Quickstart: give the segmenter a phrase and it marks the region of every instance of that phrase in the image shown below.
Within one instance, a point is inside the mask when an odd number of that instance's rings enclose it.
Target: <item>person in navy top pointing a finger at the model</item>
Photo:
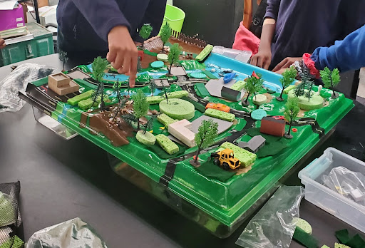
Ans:
[[[60,0],[57,7],[58,48],[68,56],[102,56],[135,85],[138,29],[153,26],[158,34],[165,0]]]

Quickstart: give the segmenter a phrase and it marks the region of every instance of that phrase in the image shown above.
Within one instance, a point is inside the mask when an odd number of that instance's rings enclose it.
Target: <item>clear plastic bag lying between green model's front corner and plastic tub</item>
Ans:
[[[282,186],[253,217],[236,244],[247,248],[289,247],[304,196],[301,186]]]

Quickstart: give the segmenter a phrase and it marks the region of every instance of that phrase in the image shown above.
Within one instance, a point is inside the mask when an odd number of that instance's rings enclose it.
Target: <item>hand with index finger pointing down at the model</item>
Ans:
[[[108,33],[109,52],[106,59],[118,70],[129,76],[129,86],[135,86],[138,50],[126,26],[115,26]]]

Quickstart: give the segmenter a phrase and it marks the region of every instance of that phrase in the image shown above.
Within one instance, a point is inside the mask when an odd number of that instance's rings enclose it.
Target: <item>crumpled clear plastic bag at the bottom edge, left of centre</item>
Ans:
[[[35,232],[25,248],[108,248],[106,243],[80,218],[70,219]]]

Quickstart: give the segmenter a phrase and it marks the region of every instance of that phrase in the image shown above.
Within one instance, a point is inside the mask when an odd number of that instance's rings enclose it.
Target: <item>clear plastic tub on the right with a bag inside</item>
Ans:
[[[365,175],[365,162],[334,148],[327,148],[321,157],[299,172],[298,176],[305,186],[305,199],[365,232],[365,207],[322,184],[322,175],[328,175],[332,168],[338,166]]]

